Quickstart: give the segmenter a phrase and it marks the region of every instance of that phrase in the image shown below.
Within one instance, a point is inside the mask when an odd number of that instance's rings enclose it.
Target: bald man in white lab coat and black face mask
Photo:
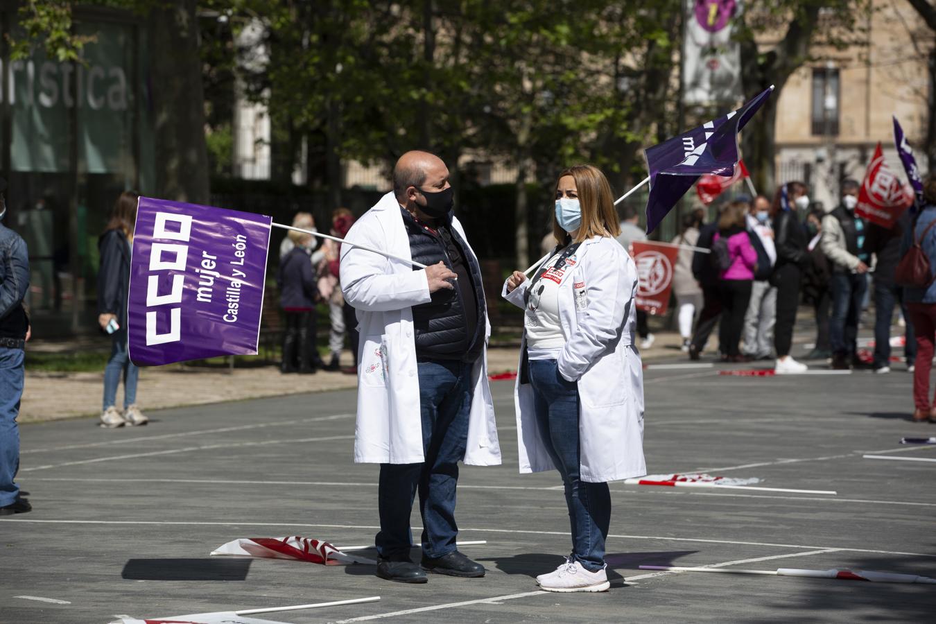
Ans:
[[[380,464],[377,575],[483,576],[456,547],[458,462],[501,463],[487,374],[490,335],[481,270],[452,214],[448,169],[407,152],[383,196],[342,245],[344,299],[358,314],[355,461]],[[422,515],[421,566],[409,557],[410,512]]]

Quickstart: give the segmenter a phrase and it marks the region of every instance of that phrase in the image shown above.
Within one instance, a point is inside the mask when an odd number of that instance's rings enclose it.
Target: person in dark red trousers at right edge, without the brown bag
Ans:
[[[914,240],[920,241],[929,259],[930,277],[936,269],[936,173],[923,181],[924,206],[900,240],[900,257],[906,254]],[[929,399],[929,372],[932,370],[933,342],[936,341],[936,281],[926,288],[906,286],[903,290],[910,320],[916,336],[916,366],[914,370],[914,422],[936,423],[936,400]]]

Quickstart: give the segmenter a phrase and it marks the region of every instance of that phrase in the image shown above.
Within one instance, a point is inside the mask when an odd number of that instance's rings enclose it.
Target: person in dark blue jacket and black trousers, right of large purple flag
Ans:
[[[283,372],[314,373],[323,366],[315,347],[315,299],[318,289],[312,267],[314,237],[290,230],[294,247],[280,260],[276,282],[285,314]]]

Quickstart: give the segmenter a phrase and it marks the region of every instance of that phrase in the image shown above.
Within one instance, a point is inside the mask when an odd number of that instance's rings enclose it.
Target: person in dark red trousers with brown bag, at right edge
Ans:
[[[914,369],[914,422],[936,423],[936,400],[929,400],[929,371],[932,368],[933,341],[936,340],[936,174],[923,181],[923,206],[913,227],[908,227],[900,243],[901,260],[897,282],[904,285],[910,320],[916,336]],[[913,265],[908,267],[908,265]],[[915,268],[916,270],[908,270]],[[926,269],[926,270],[923,270]],[[908,275],[916,273],[916,275]],[[919,275],[919,273],[923,273]],[[911,281],[908,278],[915,278]],[[911,285],[913,284],[913,285]]]

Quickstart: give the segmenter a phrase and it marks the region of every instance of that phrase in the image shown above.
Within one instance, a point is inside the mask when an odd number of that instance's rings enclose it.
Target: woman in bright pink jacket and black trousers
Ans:
[[[722,297],[722,325],[719,340],[723,358],[732,362],[746,361],[740,355],[739,342],[744,329],[744,315],[751,300],[757,252],[751,244],[745,217],[751,210],[746,201],[728,205],[718,220],[719,231],[712,244],[712,261],[719,268],[719,290]]]

